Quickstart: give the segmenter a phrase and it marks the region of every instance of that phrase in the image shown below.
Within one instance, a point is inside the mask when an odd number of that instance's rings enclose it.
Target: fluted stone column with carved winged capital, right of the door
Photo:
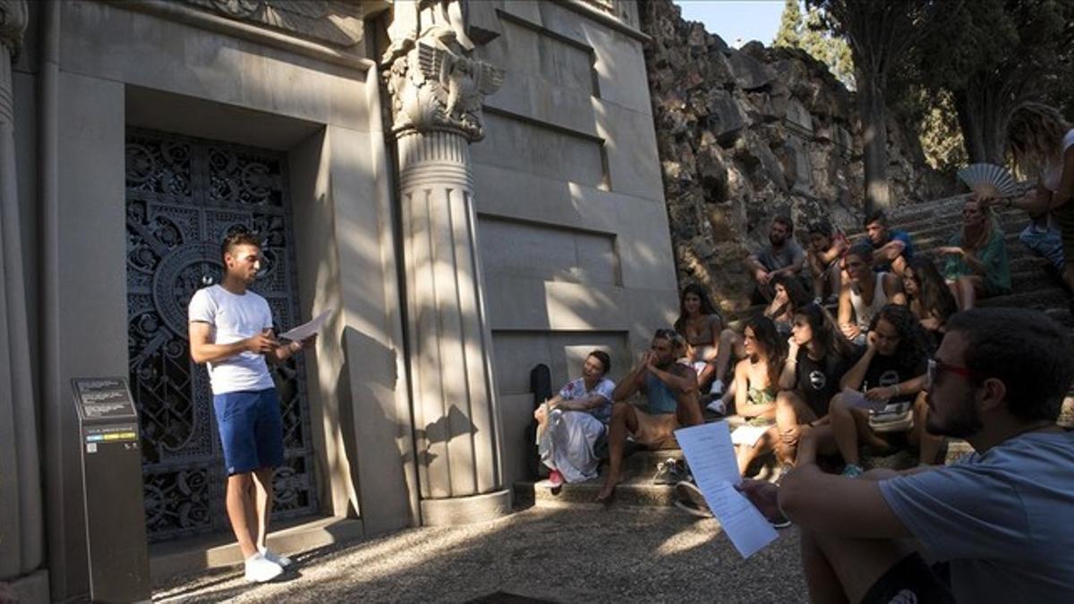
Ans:
[[[481,100],[503,72],[470,58],[458,4],[411,8],[416,27],[393,40],[383,66],[398,158],[415,443],[422,521],[461,523],[510,506],[469,163],[469,143],[483,135]]]

